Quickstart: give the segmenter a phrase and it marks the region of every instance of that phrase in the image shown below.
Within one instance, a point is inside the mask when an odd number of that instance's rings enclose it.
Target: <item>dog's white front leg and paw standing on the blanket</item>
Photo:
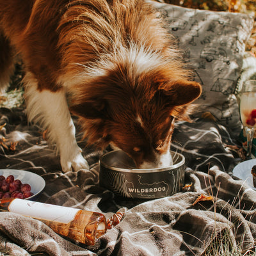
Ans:
[[[31,73],[26,74],[24,83],[29,122],[38,122],[42,129],[47,129],[47,141],[56,144],[63,172],[72,171],[72,168],[74,171],[88,169],[76,142],[76,129],[68,110],[65,90],[39,91]]]

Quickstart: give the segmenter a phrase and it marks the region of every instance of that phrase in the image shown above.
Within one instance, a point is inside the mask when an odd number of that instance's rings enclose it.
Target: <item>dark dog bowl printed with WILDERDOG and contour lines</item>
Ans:
[[[173,165],[156,169],[136,169],[131,157],[114,150],[100,157],[100,186],[127,198],[161,198],[182,190],[185,158],[172,152]]]

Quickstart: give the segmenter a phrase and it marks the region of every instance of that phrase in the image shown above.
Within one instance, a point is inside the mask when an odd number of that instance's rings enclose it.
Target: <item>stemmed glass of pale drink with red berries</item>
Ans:
[[[252,158],[253,134],[256,128],[256,80],[247,80],[243,83],[240,97],[240,115],[246,131],[246,159],[250,159]]]

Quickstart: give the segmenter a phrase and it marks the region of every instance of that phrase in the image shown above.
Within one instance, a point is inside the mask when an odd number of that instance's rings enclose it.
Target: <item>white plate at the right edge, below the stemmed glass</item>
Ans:
[[[233,169],[233,173],[239,179],[245,180],[247,184],[249,184],[253,189],[256,190],[256,188],[253,187],[252,173],[251,173],[253,165],[256,165],[256,159],[250,159],[250,160],[244,161],[235,166],[235,168]]]

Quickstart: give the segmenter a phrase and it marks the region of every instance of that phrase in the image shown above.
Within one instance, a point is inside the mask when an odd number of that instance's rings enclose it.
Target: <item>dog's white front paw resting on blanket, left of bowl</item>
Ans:
[[[81,150],[77,154],[72,156],[64,157],[61,156],[61,167],[63,172],[78,172],[81,169],[89,170],[90,166],[81,154]]]

